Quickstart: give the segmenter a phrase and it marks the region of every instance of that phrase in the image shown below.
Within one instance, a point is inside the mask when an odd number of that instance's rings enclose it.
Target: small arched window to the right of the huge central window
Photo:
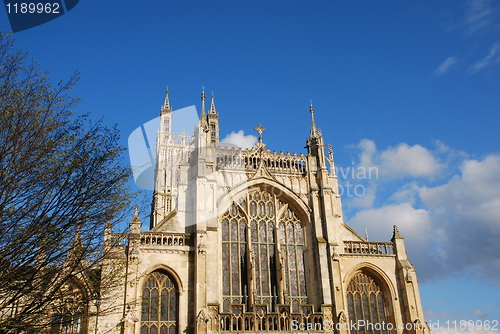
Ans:
[[[351,330],[353,334],[388,334],[391,331],[388,324],[387,296],[384,295],[381,285],[368,273],[358,272],[347,287],[347,305],[351,322],[364,321],[372,326],[359,327]]]

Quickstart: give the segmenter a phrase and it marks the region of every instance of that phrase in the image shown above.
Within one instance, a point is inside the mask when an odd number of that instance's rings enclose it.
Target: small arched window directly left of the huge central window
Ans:
[[[142,291],[141,334],[177,333],[179,290],[161,271],[148,275]]]

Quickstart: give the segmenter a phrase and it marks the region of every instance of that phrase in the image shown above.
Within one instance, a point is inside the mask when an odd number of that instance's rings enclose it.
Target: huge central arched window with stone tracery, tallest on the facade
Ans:
[[[294,210],[275,194],[250,191],[221,216],[223,311],[232,304],[307,304],[304,233]]]

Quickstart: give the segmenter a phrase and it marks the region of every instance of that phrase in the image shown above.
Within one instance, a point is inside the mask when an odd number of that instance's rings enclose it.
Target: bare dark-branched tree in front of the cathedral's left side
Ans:
[[[68,284],[100,263],[106,223],[130,207],[118,131],[72,112],[77,79],[51,85],[0,33],[0,333],[50,324]]]

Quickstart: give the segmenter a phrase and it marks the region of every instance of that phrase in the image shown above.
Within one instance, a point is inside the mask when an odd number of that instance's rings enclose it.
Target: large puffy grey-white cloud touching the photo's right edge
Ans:
[[[500,155],[465,160],[460,175],[434,188],[421,187],[432,211],[436,243],[445,254],[442,267],[470,272],[500,283]]]

